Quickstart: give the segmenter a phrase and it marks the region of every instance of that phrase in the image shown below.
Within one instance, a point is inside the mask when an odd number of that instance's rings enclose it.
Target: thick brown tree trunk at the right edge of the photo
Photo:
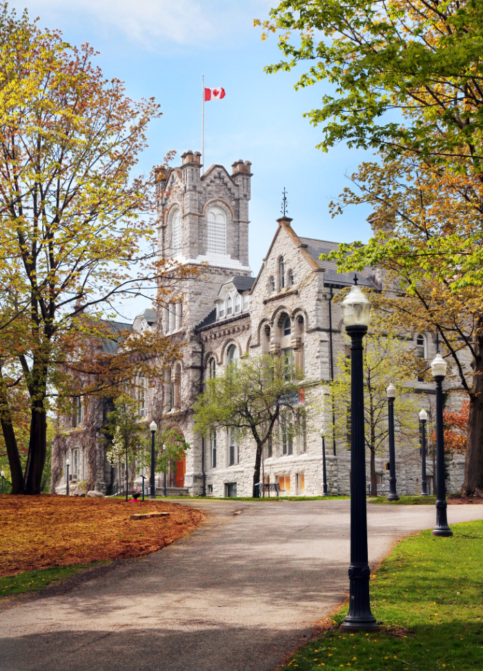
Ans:
[[[483,497],[483,317],[477,326],[462,493]]]

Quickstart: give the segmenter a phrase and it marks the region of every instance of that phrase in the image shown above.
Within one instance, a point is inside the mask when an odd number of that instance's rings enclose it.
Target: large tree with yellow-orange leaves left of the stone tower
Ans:
[[[0,422],[14,493],[40,491],[72,320],[85,311],[101,324],[141,278],[172,271],[152,263],[146,242],[155,176],[134,176],[158,106],[126,97],[94,57],[0,6]],[[25,468],[14,388],[29,399]]]

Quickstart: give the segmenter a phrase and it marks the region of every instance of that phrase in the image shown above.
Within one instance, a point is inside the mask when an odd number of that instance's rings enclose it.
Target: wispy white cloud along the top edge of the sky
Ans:
[[[21,7],[15,0],[11,4]],[[164,51],[173,44],[209,47],[248,32],[252,19],[263,18],[270,5],[270,0],[31,0],[29,13],[40,15],[41,26],[55,17],[94,20],[100,30],[115,28],[148,49]]]

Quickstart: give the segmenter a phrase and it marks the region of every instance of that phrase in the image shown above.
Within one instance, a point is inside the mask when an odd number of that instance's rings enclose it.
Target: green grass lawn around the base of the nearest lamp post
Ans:
[[[451,529],[452,538],[424,531],[404,539],[371,577],[380,632],[341,632],[344,607],[280,671],[481,670],[483,521]]]

